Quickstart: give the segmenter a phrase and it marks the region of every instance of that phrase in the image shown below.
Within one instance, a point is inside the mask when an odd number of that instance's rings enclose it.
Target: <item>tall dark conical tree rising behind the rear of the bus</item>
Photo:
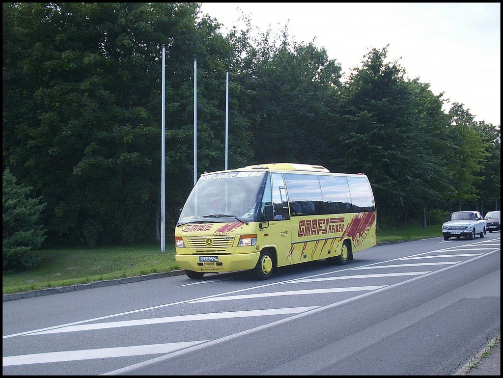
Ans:
[[[369,176],[381,219],[404,224],[441,194],[431,183],[445,175],[438,152],[429,151],[441,103],[386,56],[387,47],[372,49],[344,86],[339,148],[332,156],[345,171]]]

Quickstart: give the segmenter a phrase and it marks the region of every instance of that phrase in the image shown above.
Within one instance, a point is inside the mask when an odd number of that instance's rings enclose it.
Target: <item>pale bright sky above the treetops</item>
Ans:
[[[406,77],[444,92],[444,111],[464,105],[475,121],[500,125],[500,3],[200,3],[201,13],[258,33],[269,28],[289,40],[313,42],[347,75],[372,48],[387,47]]]

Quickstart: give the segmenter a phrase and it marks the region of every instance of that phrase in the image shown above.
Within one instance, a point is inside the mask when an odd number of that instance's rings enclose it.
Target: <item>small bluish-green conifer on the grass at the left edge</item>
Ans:
[[[2,271],[26,270],[40,258],[31,253],[45,239],[39,224],[45,204],[29,198],[30,187],[16,184],[16,177],[6,169],[2,174]]]

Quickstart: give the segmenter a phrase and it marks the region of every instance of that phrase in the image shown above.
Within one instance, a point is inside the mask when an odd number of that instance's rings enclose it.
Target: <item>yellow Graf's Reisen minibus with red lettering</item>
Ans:
[[[327,259],[346,264],[376,244],[372,187],[365,174],[272,163],[204,173],[175,228],[175,259],[190,278]]]

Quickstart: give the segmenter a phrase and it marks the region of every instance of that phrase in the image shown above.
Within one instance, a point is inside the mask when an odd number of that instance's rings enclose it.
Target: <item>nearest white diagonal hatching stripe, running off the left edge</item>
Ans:
[[[116,348],[68,350],[62,352],[49,352],[37,354],[24,354],[19,356],[2,357],[2,366],[27,365],[32,363],[48,363],[62,361],[78,361],[95,358],[112,358],[124,356],[139,356],[144,354],[172,353],[176,350],[188,348],[207,340],[176,342],[166,344],[134,345]]]

